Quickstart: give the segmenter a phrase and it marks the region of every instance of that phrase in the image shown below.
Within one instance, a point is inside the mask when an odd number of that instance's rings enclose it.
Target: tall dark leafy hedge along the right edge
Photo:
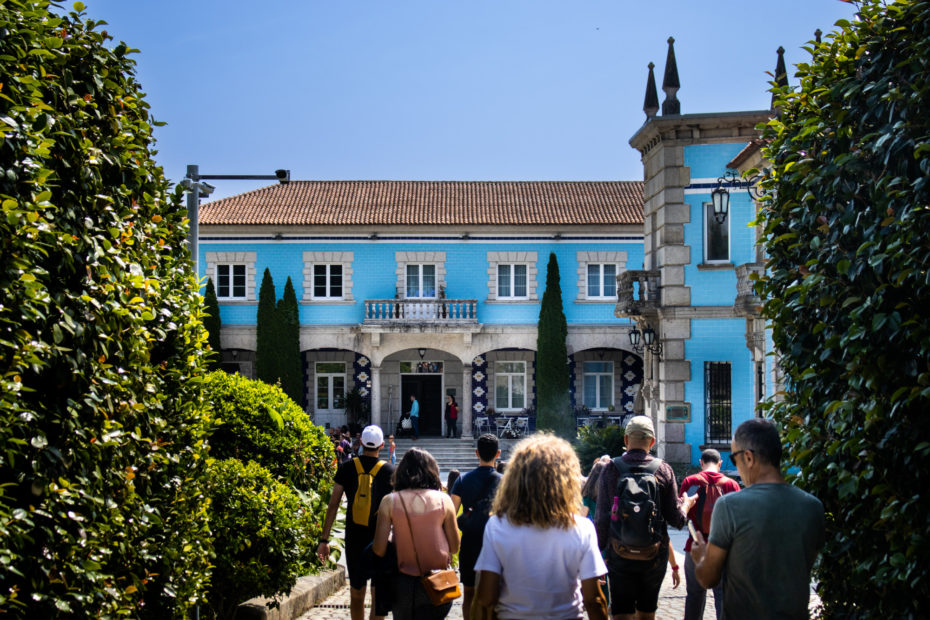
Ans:
[[[767,300],[828,617],[930,615],[930,3],[865,2],[765,128]]]

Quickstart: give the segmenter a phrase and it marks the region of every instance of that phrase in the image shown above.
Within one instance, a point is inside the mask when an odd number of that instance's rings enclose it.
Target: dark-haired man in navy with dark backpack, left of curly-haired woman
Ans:
[[[478,467],[458,480],[451,489],[452,505],[462,514],[458,518],[462,530],[462,545],[459,548],[459,572],[465,586],[462,597],[462,617],[468,618],[471,602],[475,596],[475,563],[484,542],[484,526],[491,516],[491,504],[501,476],[495,469],[495,461],[501,455],[497,437],[490,433],[478,438]]]

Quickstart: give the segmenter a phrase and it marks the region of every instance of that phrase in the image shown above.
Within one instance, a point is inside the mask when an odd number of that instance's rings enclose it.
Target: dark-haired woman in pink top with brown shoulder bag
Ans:
[[[420,576],[449,567],[459,550],[452,499],[441,491],[439,466],[426,450],[411,448],[394,470],[394,493],[381,500],[373,551],[387,552],[393,531],[398,575],[391,612],[395,620],[445,618],[452,603],[434,606]]]

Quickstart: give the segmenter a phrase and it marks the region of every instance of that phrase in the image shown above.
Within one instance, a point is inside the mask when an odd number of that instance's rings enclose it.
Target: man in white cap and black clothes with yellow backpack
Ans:
[[[345,461],[336,470],[333,479],[333,493],[326,509],[323,522],[323,537],[317,548],[317,555],[326,561],[329,557],[329,534],[339,512],[339,504],[345,494],[346,509],[345,558],[349,572],[350,611],[352,620],[363,620],[365,615],[365,586],[371,567],[366,566],[362,552],[375,537],[375,523],[378,520],[378,506],[391,488],[391,476],[394,468],[390,463],[378,459],[384,447],[384,434],[377,426],[366,426],[361,436],[362,454]],[[375,588],[371,588],[371,617],[375,616]]]

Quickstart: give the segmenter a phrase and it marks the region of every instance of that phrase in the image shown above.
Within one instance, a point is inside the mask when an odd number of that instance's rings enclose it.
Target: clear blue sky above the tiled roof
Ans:
[[[682,113],[765,109],[782,45],[840,0],[85,0],[140,50],[157,156],[177,182],[637,180],[649,61],[675,37]],[[797,80],[792,80],[797,83]],[[660,99],[663,97],[661,91]],[[214,183],[222,197],[263,182]]]

